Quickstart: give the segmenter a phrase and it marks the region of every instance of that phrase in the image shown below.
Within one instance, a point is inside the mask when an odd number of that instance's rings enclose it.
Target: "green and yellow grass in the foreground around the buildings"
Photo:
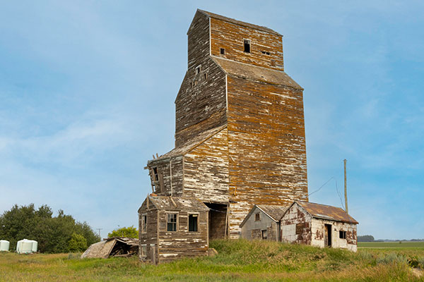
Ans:
[[[424,281],[411,268],[411,262],[424,268],[421,248],[354,253],[246,240],[216,240],[211,247],[215,257],[158,266],[136,257],[0,253],[0,281]]]

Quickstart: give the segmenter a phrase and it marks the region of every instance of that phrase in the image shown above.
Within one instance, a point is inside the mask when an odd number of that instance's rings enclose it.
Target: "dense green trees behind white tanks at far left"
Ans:
[[[46,204],[38,209],[34,204],[15,204],[0,216],[0,240],[8,240],[13,250],[18,240],[24,238],[36,240],[38,250],[47,253],[83,252],[100,241],[88,223],[76,221],[61,209],[53,216]]]

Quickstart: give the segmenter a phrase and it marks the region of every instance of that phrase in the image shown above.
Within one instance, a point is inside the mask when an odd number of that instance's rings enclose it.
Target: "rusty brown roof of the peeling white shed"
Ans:
[[[314,218],[329,219],[333,221],[341,221],[346,223],[358,224],[358,221],[353,219],[352,216],[347,214],[343,209],[339,207],[328,206],[326,204],[316,204],[312,202],[295,201],[293,204],[295,203],[299,204],[300,207],[304,208],[307,211],[307,213]]]

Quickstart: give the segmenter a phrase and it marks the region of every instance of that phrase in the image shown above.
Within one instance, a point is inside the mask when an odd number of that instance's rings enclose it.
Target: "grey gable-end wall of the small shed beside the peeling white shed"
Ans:
[[[259,221],[255,221],[255,214],[259,214]],[[278,223],[273,221],[267,214],[254,207],[254,211],[250,214],[245,224],[242,226],[242,238],[247,240],[261,239],[261,231],[267,231],[267,240],[278,241]]]

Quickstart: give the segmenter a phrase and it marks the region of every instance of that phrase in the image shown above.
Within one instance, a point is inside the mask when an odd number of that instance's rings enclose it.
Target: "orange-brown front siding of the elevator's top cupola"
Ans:
[[[244,39],[250,40],[250,53],[244,51]],[[220,54],[220,48],[225,49],[225,54]],[[211,55],[254,66],[281,71],[284,69],[281,35],[255,30],[217,18],[211,18]],[[274,66],[272,66],[271,60],[275,61]]]

